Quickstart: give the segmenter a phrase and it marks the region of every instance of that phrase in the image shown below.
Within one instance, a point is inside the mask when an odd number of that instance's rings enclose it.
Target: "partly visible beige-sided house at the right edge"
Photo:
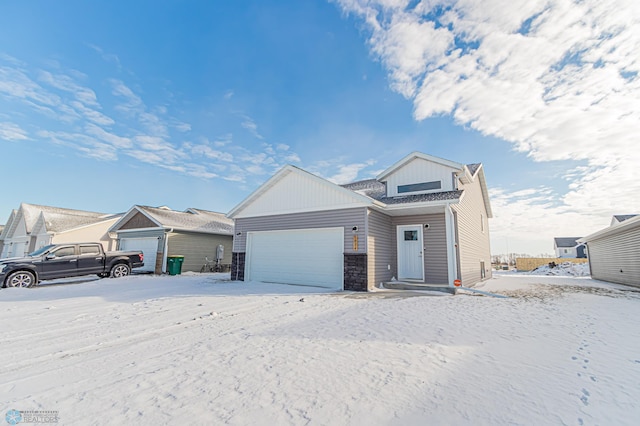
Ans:
[[[589,251],[591,278],[640,287],[640,216],[580,239]]]

